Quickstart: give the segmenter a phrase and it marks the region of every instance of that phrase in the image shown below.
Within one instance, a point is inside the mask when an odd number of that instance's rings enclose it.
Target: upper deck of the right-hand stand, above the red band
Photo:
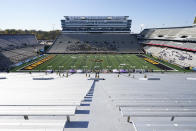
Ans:
[[[196,51],[196,26],[145,29],[140,34],[140,43]]]

